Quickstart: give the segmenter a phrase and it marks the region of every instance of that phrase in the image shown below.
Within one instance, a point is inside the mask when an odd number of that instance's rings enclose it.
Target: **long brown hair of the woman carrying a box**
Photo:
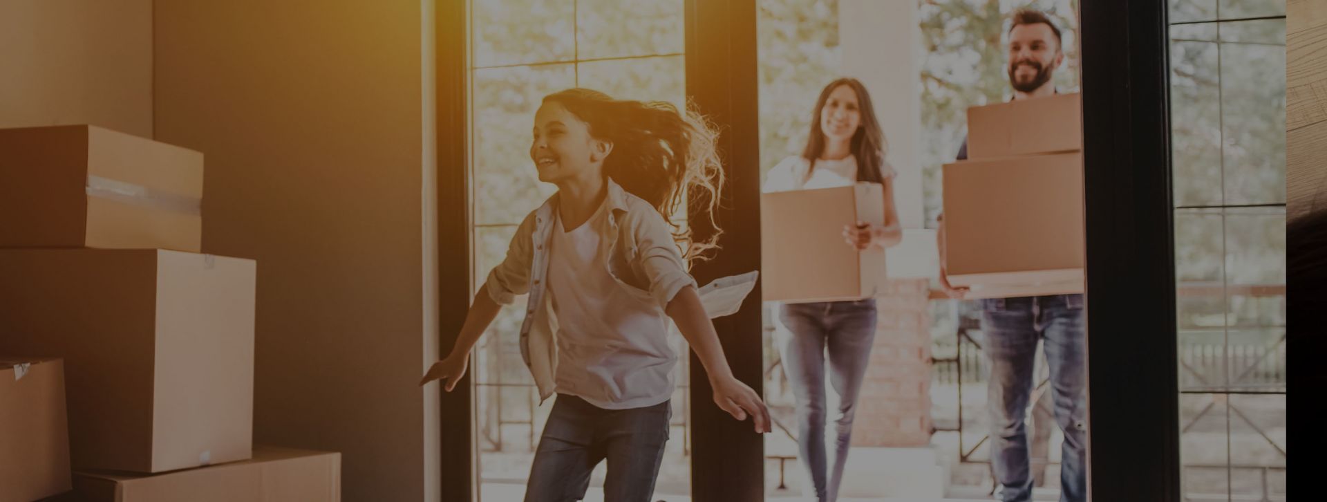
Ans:
[[[825,151],[825,133],[820,129],[820,110],[829,101],[829,93],[840,85],[847,85],[857,94],[857,110],[861,113],[861,126],[852,133],[849,151],[857,158],[857,181],[881,183],[880,167],[885,163],[885,134],[880,130],[880,121],[876,120],[876,108],[871,104],[871,94],[867,86],[852,77],[836,78],[820,90],[816,100],[815,112],[811,113],[811,134],[807,135],[807,147],[802,150],[802,158],[807,159],[811,169],[807,169],[807,179],[816,169],[816,159]]]

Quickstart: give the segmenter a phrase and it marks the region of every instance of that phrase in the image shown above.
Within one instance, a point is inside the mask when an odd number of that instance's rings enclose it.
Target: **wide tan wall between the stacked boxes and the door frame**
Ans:
[[[342,452],[346,501],[425,499],[438,474],[422,12],[155,1],[157,138],[207,155],[204,251],[259,263],[255,440]]]

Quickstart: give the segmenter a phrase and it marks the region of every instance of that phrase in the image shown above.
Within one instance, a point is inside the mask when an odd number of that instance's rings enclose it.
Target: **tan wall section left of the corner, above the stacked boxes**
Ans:
[[[0,127],[153,135],[151,0],[0,0]]]

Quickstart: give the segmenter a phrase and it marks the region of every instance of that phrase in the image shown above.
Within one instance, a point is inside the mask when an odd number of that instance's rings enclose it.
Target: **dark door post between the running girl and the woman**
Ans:
[[[698,262],[705,284],[760,268],[760,129],[756,98],[756,0],[686,1],[686,94],[722,130],[719,151],[727,185],[715,220],[723,247]],[[694,202],[694,201],[693,201]],[[693,205],[693,207],[697,207]],[[689,212],[697,239],[713,235],[706,214]],[[759,290],[714,325],[733,373],[762,392],[763,344]],[[691,356],[691,493],[697,502],[764,499],[764,437],[750,420],[719,409],[705,369]]]

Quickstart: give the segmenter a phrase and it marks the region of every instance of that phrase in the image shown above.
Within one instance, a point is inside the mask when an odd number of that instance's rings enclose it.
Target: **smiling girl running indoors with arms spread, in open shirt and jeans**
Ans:
[[[764,402],[729,369],[687,274],[687,260],[714,248],[714,239],[693,242],[669,224],[685,187],[710,195],[711,209],[718,199],[714,134],[698,114],[666,102],[588,89],[549,94],[535,114],[529,158],[557,193],[525,216],[451,355],[425,375],[446,378],[450,392],[499,304],[529,293],[522,356],[540,400],[557,398],[527,502],[581,499],[605,458],[605,501],[650,501],[678,357],[667,345],[669,319],[705,365],[714,402],[736,420],[750,416],[756,433],[770,430]]]

